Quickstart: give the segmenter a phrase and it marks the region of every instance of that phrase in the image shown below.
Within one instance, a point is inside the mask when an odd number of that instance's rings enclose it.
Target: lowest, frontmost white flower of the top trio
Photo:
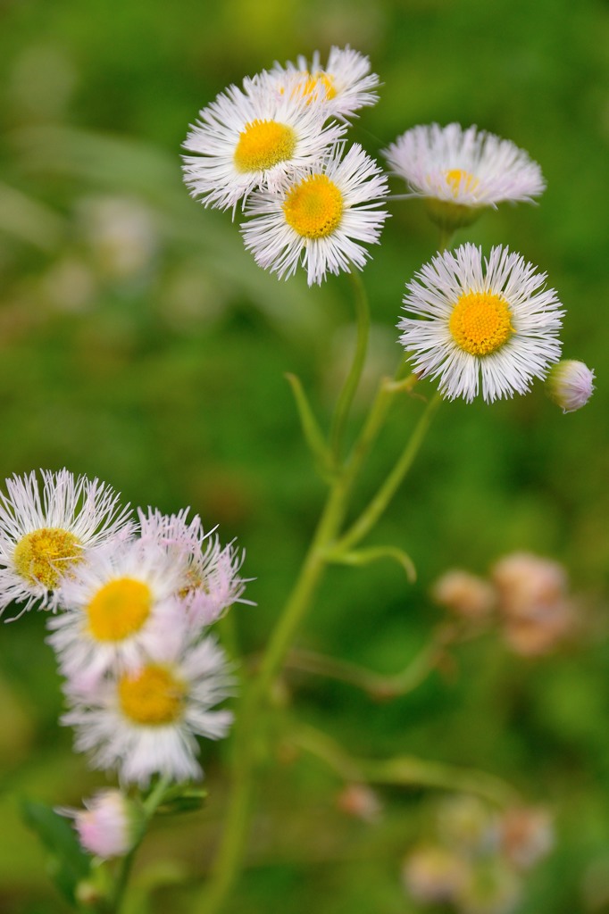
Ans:
[[[359,242],[379,241],[387,178],[358,143],[342,153],[338,147],[280,193],[252,194],[241,231],[263,269],[287,278],[302,261],[312,285],[326,271],[364,267],[370,255]]]

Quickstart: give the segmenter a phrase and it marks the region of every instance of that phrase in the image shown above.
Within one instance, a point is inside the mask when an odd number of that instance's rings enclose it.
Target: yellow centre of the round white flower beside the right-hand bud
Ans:
[[[495,292],[465,292],[448,324],[454,342],[471,356],[490,356],[514,333],[508,303]]]

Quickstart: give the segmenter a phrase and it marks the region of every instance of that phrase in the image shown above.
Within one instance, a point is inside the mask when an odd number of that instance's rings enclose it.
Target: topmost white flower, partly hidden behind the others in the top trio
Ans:
[[[379,77],[370,72],[369,58],[349,48],[330,48],[326,66],[322,66],[321,55],[315,51],[309,62],[303,55],[296,63],[288,61],[284,67],[275,63],[272,76],[280,90],[284,89],[287,78],[296,74],[292,91],[304,98],[321,95],[326,117],[348,120],[359,108],[374,105],[379,96],[374,91],[379,86]]]

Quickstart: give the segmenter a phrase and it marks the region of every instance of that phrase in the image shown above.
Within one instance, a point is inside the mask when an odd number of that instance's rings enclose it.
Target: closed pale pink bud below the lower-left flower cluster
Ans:
[[[127,855],[144,825],[139,807],[116,789],[96,793],[84,807],[59,810],[74,819],[80,845],[104,860]]]

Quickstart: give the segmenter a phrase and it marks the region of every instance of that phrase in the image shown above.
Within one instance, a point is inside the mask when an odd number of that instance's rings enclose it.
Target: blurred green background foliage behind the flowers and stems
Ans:
[[[433,675],[390,705],[301,675],[288,686],[299,713],[356,754],[473,765],[547,804],[556,847],[518,910],[606,914],[606,3],[0,3],[0,475],[67,466],[134,505],[192,505],[225,542],[238,537],[247,549],[244,571],[256,579],[247,595],[258,605],[233,615],[240,650],[261,648],[324,494],[283,373],[303,378],[326,421],[353,338],[349,285],[339,277],[308,290],[303,275],[278,282],[259,270],[230,215],[188,197],[180,145],[230,82],[315,48],[324,59],[347,43],[369,55],[383,83],[379,104],[349,134],[370,154],[417,123],[458,121],[508,137],[540,162],[548,190],[539,207],[500,207],[457,240],[508,244],[548,272],[568,310],[565,356],[596,369],[597,390],[568,416],[540,384],[492,407],[443,404],[369,539],[406,549],[417,584],[384,564],[332,571],[299,643],[397,670],[440,618],[428,596],[433,579],[454,565],[485,573],[514,549],[564,563],[581,595],[582,635],[527,661],[491,634],[455,654],[454,675]],[[400,356],[404,283],[437,245],[419,201],[390,211],[363,274],[374,325],[359,417],[374,378]],[[415,399],[395,409],[362,500],[420,409]],[[43,617],[30,613],[1,634],[0,909],[60,912],[18,798],[77,805],[103,777],[71,754],[57,723]],[[205,870],[226,751],[205,749],[208,810],[156,831],[143,878],[163,856],[170,864],[157,868],[159,881]],[[428,792],[388,794],[371,825],[337,810],[337,779],[314,760],[286,763],[273,778],[230,912],[419,910],[399,873]],[[157,909],[181,911],[180,898],[160,892]]]

